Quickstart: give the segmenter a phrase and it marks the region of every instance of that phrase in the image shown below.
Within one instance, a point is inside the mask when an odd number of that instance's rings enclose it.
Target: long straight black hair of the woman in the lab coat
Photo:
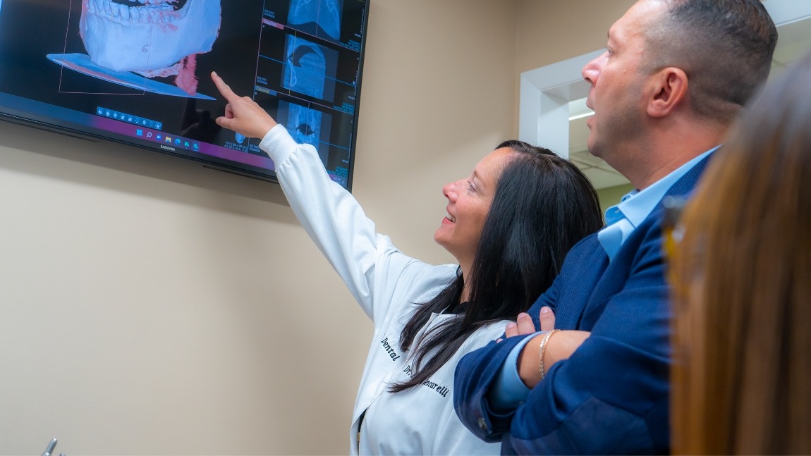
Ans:
[[[564,257],[583,237],[603,227],[594,186],[569,160],[543,147],[517,140],[496,185],[470,277],[470,296],[459,305],[465,279],[457,278],[439,295],[420,305],[401,333],[405,352],[431,313],[457,313],[432,328],[414,347],[414,377],[393,384],[391,392],[427,380],[448,362],[475,330],[514,319],[545,292]],[[423,365],[424,364],[424,365]]]

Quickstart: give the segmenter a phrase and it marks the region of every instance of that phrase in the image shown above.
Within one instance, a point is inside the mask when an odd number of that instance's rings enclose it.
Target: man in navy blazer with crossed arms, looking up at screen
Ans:
[[[457,366],[454,406],[478,437],[504,454],[669,451],[663,198],[693,190],[776,41],[758,0],[640,0],[611,26],[582,71],[588,147],[637,190],[504,340]]]

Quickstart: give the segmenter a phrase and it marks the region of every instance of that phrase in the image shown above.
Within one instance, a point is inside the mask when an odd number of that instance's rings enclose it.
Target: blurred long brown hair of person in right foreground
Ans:
[[[674,454],[811,454],[809,81],[811,55],[753,99],[681,216]]]

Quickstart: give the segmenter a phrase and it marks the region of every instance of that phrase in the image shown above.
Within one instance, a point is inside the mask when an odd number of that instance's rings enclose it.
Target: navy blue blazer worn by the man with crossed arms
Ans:
[[[712,154],[710,154],[711,156]],[[684,196],[707,156],[667,195]],[[663,206],[640,224],[613,261],[591,235],[566,256],[560,274],[529,310],[535,327],[543,305],[555,326],[591,335],[569,360],[549,369],[515,411],[499,413],[487,396],[520,337],[462,358],[453,404],[461,421],[503,454],[666,454],[670,309],[662,250]]]

